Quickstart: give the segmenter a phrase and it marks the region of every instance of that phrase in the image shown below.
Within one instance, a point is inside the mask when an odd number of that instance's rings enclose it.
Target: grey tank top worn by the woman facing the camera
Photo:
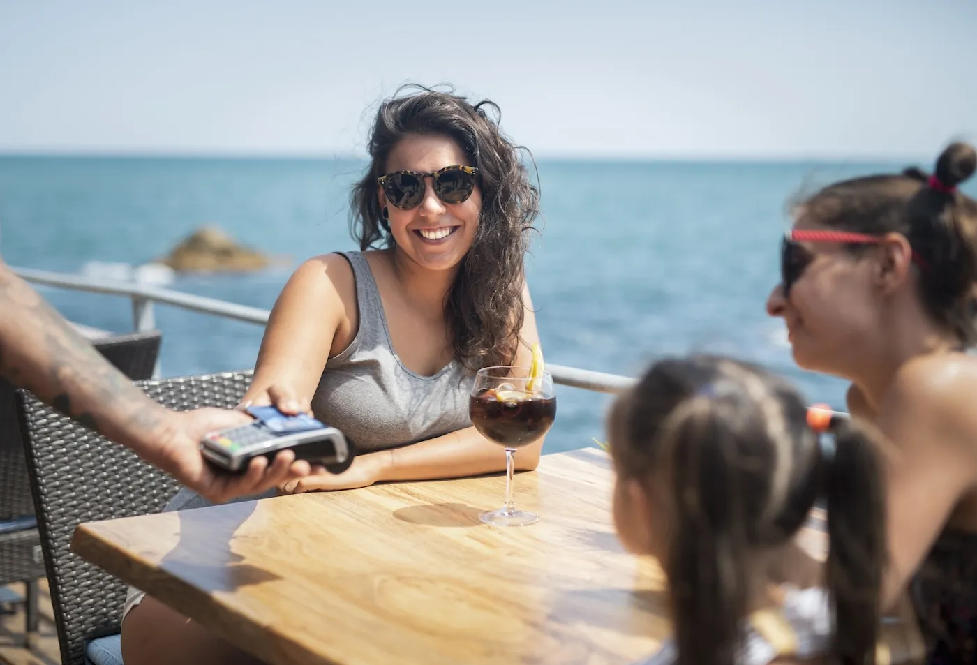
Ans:
[[[325,363],[312,399],[319,420],[339,428],[358,452],[393,448],[470,427],[474,377],[451,360],[434,376],[404,367],[394,353],[380,292],[360,252],[345,252],[357,282],[360,328]]]

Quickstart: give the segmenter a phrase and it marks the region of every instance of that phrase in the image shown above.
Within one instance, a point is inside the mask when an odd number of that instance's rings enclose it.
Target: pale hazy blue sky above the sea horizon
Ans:
[[[537,157],[931,157],[977,1],[0,0],[0,152],[363,155],[411,82]]]

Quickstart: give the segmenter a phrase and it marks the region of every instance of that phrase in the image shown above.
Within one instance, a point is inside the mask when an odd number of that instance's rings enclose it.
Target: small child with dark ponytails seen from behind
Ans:
[[[785,380],[714,356],[658,361],[609,431],[618,535],[668,579],[674,637],[649,665],[875,662],[886,540],[866,431],[809,419]],[[819,498],[828,559],[799,586],[795,536]]]

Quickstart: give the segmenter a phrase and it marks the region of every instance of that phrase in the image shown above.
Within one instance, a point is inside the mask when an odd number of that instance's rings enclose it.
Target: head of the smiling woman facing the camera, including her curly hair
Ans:
[[[362,250],[400,249],[395,258],[456,270],[446,323],[453,353],[472,370],[512,360],[527,232],[538,215],[519,150],[488,110],[498,114],[488,101],[471,105],[427,91],[382,104],[367,148],[370,168],[351,200]],[[422,233],[452,241],[434,249],[416,242]]]

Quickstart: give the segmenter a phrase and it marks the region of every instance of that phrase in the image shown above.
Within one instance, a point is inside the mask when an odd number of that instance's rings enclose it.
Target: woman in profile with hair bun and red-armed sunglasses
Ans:
[[[893,444],[882,603],[909,591],[931,663],[977,659],[977,166],[836,183],[801,203],[767,311],[796,362],[852,382],[849,409]]]

